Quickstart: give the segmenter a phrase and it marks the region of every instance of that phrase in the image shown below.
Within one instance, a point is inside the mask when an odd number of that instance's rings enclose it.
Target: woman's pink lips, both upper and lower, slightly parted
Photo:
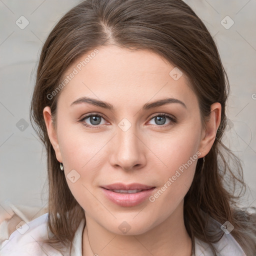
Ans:
[[[112,202],[124,206],[130,207],[135,206],[148,198],[152,191],[155,189],[155,186],[147,186],[139,183],[131,183],[131,184],[123,184],[123,183],[114,183],[111,185],[104,185],[100,187],[106,197]],[[121,189],[121,190],[134,190],[134,189],[142,189],[140,192],[136,193],[118,193],[111,191],[109,189]]]

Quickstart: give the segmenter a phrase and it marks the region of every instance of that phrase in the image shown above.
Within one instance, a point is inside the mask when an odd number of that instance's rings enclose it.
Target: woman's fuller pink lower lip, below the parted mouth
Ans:
[[[100,187],[106,197],[111,200],[112,202],[124,206],[124,207],[130,207],[135,206],[143,202],[146,198],[148,198],[152,191],[155,189],[155,187],[152,187],[150,189],[142,190],[137,193],[116,193],[110,190],[107,190],[103,187]]]

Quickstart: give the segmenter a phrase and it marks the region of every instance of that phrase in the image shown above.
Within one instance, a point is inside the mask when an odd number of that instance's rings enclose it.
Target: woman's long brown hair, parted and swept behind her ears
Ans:
[[[212,36],[182,0],[85,0],[69,10],[47,37],[37,68],[30,120],[34,121],[33,127],[47,150],[48,227],[54,235],[48,242],[70,244],[85,216],[59,170],[43,119],[43,108],[50,106],[55,120],[61,91],[52,99],[47,95],[61,82],[71,63],[96,47],[109,44],[151,50],[182,70],[197,96],[202,125],[209,118],[210,105],[221,104],[216,139],[204,157],[204,164],[202,158],[198,159],[184,198],[185,227],[192,238],[193,251],[194,237],[197,237],[209,243],[216,255],[212,243],[223,232],[220,228],[214,232],[205,228],[207,216],[220,223],[229,221],[234,226],[233,237],[247,255],[255,255],[255,219],[236,206],[245,188],[241,163],[221,142],[227,120],[228,78]],[[229,159],[234,161],[233,166]],[[235,194],[237,185],[239,194]]]

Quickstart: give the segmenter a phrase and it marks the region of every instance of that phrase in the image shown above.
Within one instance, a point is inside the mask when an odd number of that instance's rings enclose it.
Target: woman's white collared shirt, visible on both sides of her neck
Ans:
[[[0,244],[0,256],[61,256],[62,254],[52,246],[40,243],[40,240],[48,239],[47,217],[45,213],[22,227],[12,232],[8,239]],[[73,249],[70,256],[82,256],[82,233],[84,219],[81,220],[73,238]],[[229,233],[221,237],[214,244],[214,247],[221,256],[246,256],[240,245]],[[69,248],[66,249],[68,251]],[[64,254],[67,255],[67,254]],[[207,243],[195,238],[195,256],[211,256],[212,252]]]

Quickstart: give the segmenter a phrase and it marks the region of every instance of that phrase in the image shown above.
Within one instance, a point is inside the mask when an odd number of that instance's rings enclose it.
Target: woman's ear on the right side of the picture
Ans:
[[[210,119],[205,123],[198,150],[205,156],[213,145],[221,119],[221,104],[215,102],[210,106]]]

